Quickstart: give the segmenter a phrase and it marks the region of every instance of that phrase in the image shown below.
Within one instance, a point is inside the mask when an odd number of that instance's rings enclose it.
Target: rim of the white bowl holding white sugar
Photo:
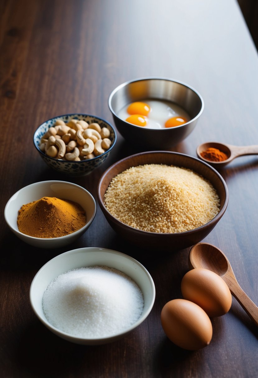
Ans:
[[[33,285],[35,284],[35,281],[36,281],[37,277],[40,275],[40,273],[42,272],[42,270],[44,270],[47,265],[50,265],[51,262],[53,262],[53,260],[62,259],[63,256],[67,256],[68,254],[76,254],[76,253],[81,253],[81,252],[83,252],[85,254],[87,254],[87,252],[94,252],[94,253],[107,252],[107,253],[118,255],[120,257],[124,257],[125,259],[131,260],[131,262],[133,262],[136,265],[138,265],[141,268],[141,270],[145,273],[145,275],[148,277],[150,285],[151,285],[151,288],[152,288],[152,299],[151,299],[151,302],[149,304],[148,310],[146,311],[146,313],[144,314],[144,316],[142,316],[142,314],[141,314],[140,318],[134,324],[132,324],[129,328],[127,328],[125,331],[120,332],[120,333],[116,333],[114,335],[110,335],[110,336],[106,336],[106,337],[101,337],[101,338],[99,338],[99,337],[97,337],[97,338],[84,338],[84,337],[80,337],[80,336],[74,336],[74,335],[72,335],[70,333],[61,331],[58,328],[54,327],[50,322],[48,322],[47,319],[45,320],[44,318],[42,318],[42,316],[40,316],[40,314],[36,311],[36,308],[34,307],[34,304],[33,304],[33,301],[32,301],[32,291],[33,291]],[[63,273],[65,273],[66,271],[64,271]],[[127,276],[128,276],[128,274],[127,274]],[[136,327],[138,327],[138,325],[140,325],[148,317],[149,313],[151,312],[151,310],[153,308],[153,305],[154,305],[154,302],[155,302],[155,296],[156,296],[155,283],[154,283],[154,280],[153,280],[151,274],[145,268],[145,266],[143,264],[141,264],[138,260],[134,259],[134,257],[131,257],[131,256],[129,256],[129,255],[123,253],[123,252],[115,251],[114,249],[109,249],[109,248],[82,247],[82,248],[77,248],[77,249],[71,249],[70,251],[66,251],[64,253],[61,253],[61,254],[53,257],[52,259],[50,259],[48,262],[46,262],[39,269],[39,271],[37,271],[37,273],[35,274],[32,282],[31,282],[31,285],[30,285],[30,304],[31,304],[31,307],[33,308],[33,311],[36,314],[36,316],[40,319],[40,321],[47,328],[49,328],[51,330],[54,330],[55,333],[58,333],[59,336],[60,335],[64,336],[66,339],[67,338],[71,338],[71,339],[74,339],[74,340],[77,340],[77,341],[85,341],[85,342],[86,341],[89,341],[89,342],[92,341],[92,342],[94,342],[94,341],[98,341],[98,340],[103,340],[103,344],[105,343],[105,341],[108,341],[108,340],[112,341],[112,339],[120,338],[123,335],[126,335],[127,333],[129,333],[132,330],[134,330]]]

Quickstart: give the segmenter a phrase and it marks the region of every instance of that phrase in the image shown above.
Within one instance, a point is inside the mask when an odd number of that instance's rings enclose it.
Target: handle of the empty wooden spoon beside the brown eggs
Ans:
[[[232,295],[250,316],[256,326],[258,326],[258,307],[256,306],[256,304],[253,303],[253,301],[244,292],[244,290],[240,287],[239,283],[235,279],[231,279],[230,277],[223,277],[223,279],[227,283]]]

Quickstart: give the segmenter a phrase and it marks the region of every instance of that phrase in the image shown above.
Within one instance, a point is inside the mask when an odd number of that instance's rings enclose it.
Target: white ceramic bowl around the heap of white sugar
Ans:
[[[46,319],[42,309],[42,297],[49,283],[59,274],[65,273],[68,270],[96,265],[108,266],[110,268],[120,270],[122,273],[134,280],[135,283],[137,283],[144,298],[144,307],[140,318],[126,331],[104,338],[81,338],[62,332],[58,328],[53,327],[53,325],[51,325]],[[73,249],[54,257],[37,272],[30,287],[31,306],[39,320],[51,332],[55,333],[62,339],[74,342],[76,344],[107,344],[122,338],[127,333],[138,327],[138,325],[140,325],[147,318],[153,307],[154,301],[155,285],[146,268],[141,265],[140,262],[124,253],[104,248]]]

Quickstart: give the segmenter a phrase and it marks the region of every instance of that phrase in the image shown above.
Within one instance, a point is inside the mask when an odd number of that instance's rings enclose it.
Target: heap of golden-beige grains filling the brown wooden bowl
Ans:
[[[149,232],[184,232],[219,212],[219,197],[201,175],[165,164],[131,167],[113,178],[107,210],[128,226]]]

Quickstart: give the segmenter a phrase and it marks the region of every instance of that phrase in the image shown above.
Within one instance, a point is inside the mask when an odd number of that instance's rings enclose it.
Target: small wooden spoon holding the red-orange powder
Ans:
[[[227,160],[211,161],[203,158],[201,153],[210,147],[216,148],[221,152],[224,152],[228,156]],[[223,167],[230,163],[230,161],[232,161],[233,159],[237,158],[238,156],[258,155],[258,146],[232,146],[231,144],[226,143],[207,142],[200,144],[200,146],[197,147],[196,153],[197,156],[203,161],[206,161],[206,163],[209,163],[214,167]]]

